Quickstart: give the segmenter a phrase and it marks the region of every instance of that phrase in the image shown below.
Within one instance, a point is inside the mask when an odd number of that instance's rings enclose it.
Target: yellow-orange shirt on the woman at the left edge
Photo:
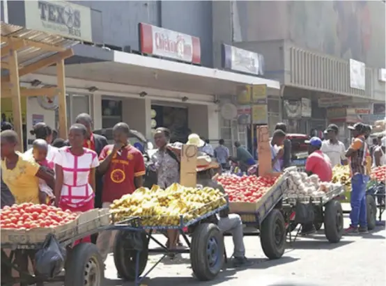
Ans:
[[[19,159],[13,170],[6,166],[6,161],[1,160],[1,175],[4,183],[10,189],[10,192],[15,197],[15,202],[21,204],[23,202],[39,203],[39,180],[36,173],[40,168],[33,159],[17,152]]]

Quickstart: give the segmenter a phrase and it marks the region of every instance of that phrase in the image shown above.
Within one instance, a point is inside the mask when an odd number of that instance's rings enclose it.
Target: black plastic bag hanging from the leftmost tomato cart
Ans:
[[[64,267],[67,251],[63,248],[56,237],[52,234],[47,235],[43,247],[36,253],[36,271],[39,276],[54,278]]]

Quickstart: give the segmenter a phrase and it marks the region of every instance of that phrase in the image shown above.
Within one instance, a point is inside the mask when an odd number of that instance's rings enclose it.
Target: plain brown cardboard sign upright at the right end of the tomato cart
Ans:
[[[272,154],[270,148],[270,132],[267,125],[256,127],[258,175],[263,176],[272,170]]]

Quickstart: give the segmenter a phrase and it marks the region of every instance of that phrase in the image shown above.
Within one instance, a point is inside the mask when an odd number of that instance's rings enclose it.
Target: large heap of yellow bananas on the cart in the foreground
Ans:
[[[130,195],[114,200],[110,206],[115,219],[140,216],[146,226],[176,226],[226,205],[224,194],[218,189],[188,188],[172,184],[167,189],[153,186],[139,188]]]

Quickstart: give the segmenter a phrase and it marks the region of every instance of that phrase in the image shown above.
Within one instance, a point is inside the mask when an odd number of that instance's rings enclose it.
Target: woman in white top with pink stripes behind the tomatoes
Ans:
[[[68,132],[70,147],[59,149],[54,163],[56,184],[55,205],[71,212],[87,212],[94,208],[95,168],[98,155],[83,147],[86,127],[74,124]],[[82,239],[91,242],[90,237]]]

